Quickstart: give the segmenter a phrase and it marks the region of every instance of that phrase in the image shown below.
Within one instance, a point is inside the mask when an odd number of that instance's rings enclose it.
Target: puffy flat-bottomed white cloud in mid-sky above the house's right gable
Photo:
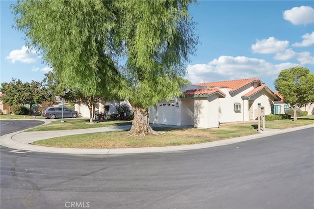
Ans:
[[[256,40],[256,44],[252,44],[254,53],[277,53],[284,51],[289,45],[288,41],[279,41],[274,37],[268,39]]]

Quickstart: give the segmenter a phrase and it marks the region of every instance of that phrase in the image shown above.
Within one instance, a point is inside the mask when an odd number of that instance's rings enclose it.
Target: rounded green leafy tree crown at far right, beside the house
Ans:
[[[314,102],[314,74],[308,68],[293,67],[282,70],[274,85],[291,107]]]

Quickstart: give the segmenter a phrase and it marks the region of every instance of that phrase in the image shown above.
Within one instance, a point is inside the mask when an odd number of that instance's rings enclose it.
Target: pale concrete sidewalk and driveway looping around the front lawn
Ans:
[[[28,150],[33,152],[44,153],[63,153],[63,154],[132,154],[132,153],[157,153],[157,152],[173,152],[183,150],[195,150],[209,147],[222,146],[227,144],[233,144],[236,142],[247,141],[266,136],[276,135],[280,133],[286,133],[290,131],[298,131],[302,129],[314,128],[314,125],[307,125],[302,127],[296,127],[285,130],[278,129],[266,129],[261,134],[236,137],[231,139],[225,139],[220,141],[207,142],[202,144],[193,145],[181,145],[181,146],[168,146],[168,147],[143,147],[143,148],[119,148],[119,149],[79,149],[79,148],[55,148],[31,145],[33,141],[48,139],[58,136],[82,134],[82,133],[95,133],[105,131],[120,131],[130,130],[129,126],[115,126],[104,128],[91,128],[91,129],[79,129],[79,130],[65,130],[65,131],[16,131],[10,134],[1,136],[0,145],[16,150]]]

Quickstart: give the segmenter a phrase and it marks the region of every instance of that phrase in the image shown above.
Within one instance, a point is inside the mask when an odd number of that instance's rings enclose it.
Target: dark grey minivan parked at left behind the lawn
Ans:
[[[49,106],[43,109],[41,116],[54,119],[62,117],[62,107]],[[64,118],[76,118],[78,117],[78,112],[67,107],[63,107],[63,117]]]

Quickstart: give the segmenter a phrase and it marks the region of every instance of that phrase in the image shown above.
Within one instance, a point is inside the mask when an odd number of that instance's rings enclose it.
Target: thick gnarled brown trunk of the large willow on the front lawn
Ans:
[[[148,134],[157,134],[157,131],[152,130],[149,125],[147,117],[147,109],[142,107],[133,106],[134,119],[132,121],[132,127],[129,131],[130,136],[145,136]]]

